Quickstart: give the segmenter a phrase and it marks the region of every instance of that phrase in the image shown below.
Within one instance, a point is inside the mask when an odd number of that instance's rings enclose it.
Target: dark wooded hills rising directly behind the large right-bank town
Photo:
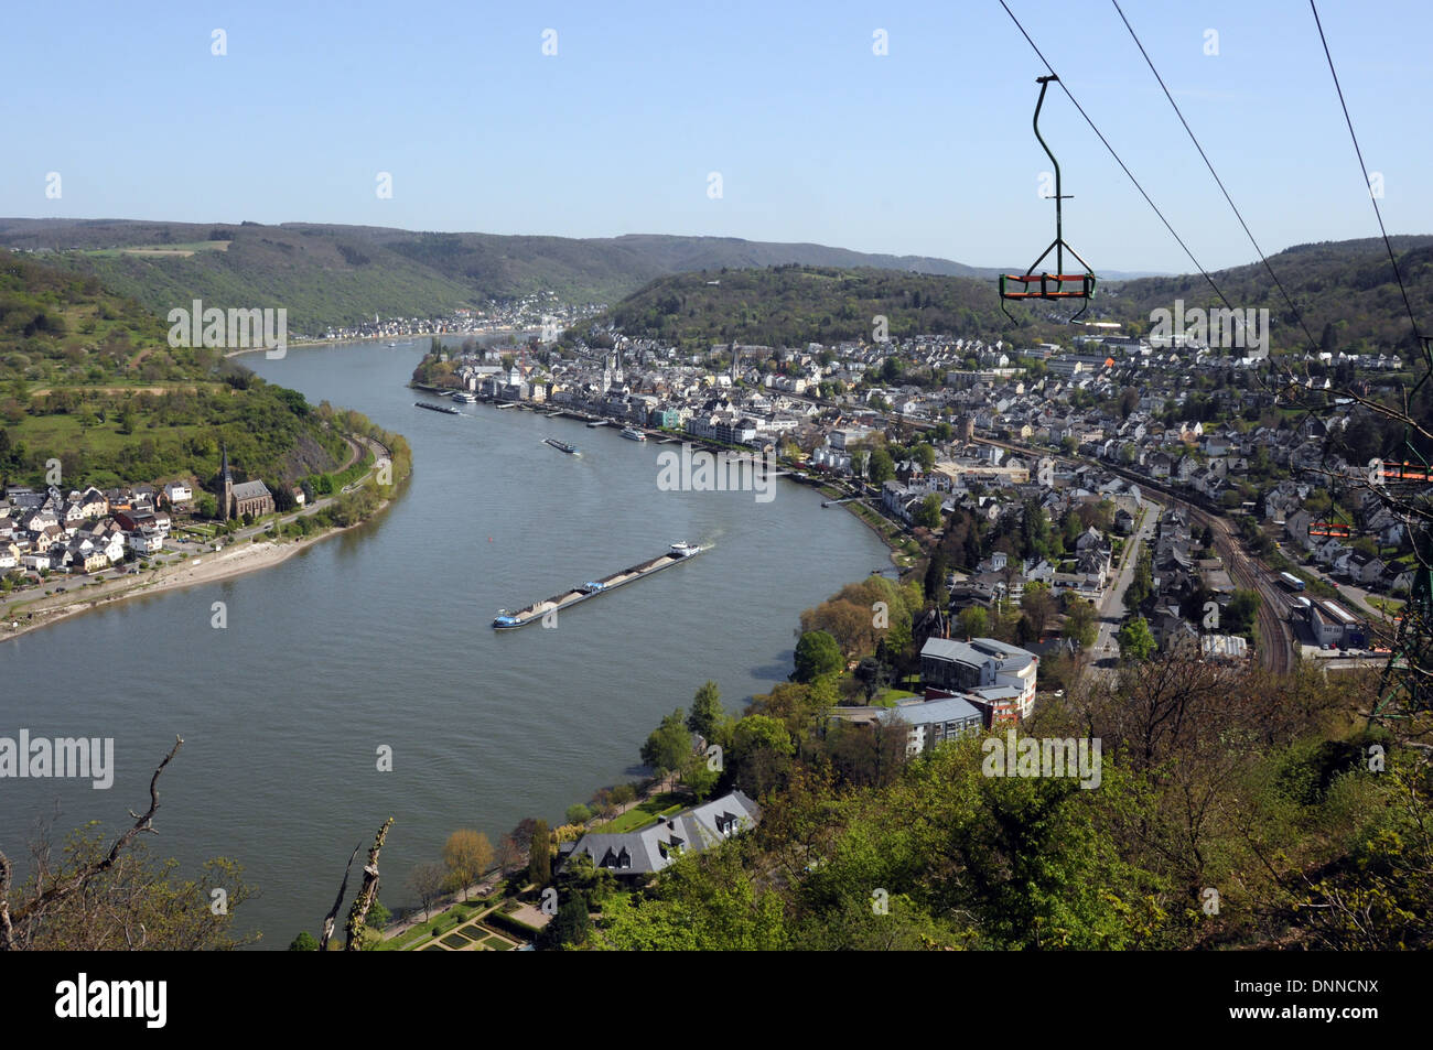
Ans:
[[[1393,246],[1420,324],[1433,329],[1433,236],[1397,236]],[[1270,256],[1270,265],[1321,350],[1414,348],[1383,241],[1298,245]],[[1222,269],[1212,278],[1235,308],[1270,309],[1275,351],[1308,348],[1262,264]],[[1129,334],[1144,334],[1151,328],[1152,311],[1172,311],[1176,299],[1185,309],[1221,305],[1201,275],[1109,281],[1098,285],[1082,319],[1112,319]],[[887,318],[891,338],[936,334],[1029,345],[1083,331],[1052,322],[1048,314],[1053,312],[1016,304],[1012,314],[1022,319],[1016,328],[1000,311],[993,278],[772,266],[659,278],[612,307],[596,324],[610,321],[626,335],[688,347],[870,341],[877,315]],[[1059,312],[1073,314],[1073,307],[1060,304]]]

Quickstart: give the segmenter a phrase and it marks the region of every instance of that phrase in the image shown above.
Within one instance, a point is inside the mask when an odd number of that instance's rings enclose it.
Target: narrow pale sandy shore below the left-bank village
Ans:
[[[374,517],[381,514],[387,506],[387,500],[381,503],[374,511]],[[371,521],[373,517],[367,520]],[[364,521],[348,526],[347,529],[330,529],[318,536],[307,536],[299,540],[259,540],[257,543],[244,540],[218,553],[198,554],[185,562],[165,566],[163,569],[155,572],[142,573],[135,579],[123,577],[119,580],[106,580],[100,587],[85,587],[80,592],[83,597],[59,594],[54,597],[40,599],[23,606],[16,613],[6,615],[4,622],[0,623],[0,642],[19,637],[20,635],[26,635],[32,630],[39,630],[40,627],[47,627],[52,623],[59,623],[70,616],[79,616],[80,613],[87,613],[93,609],[109,607],[129,597],[140,594],[162,594],[166,590],[202,586],[218,580],[226,580],[234,576],[241,576],[257,569],[268,569],[269,566],[275,566],[315,543],[321,543],[331,536],[345,533],[348,529],[358,529],[361,524],[364,524]],[[73,579],[73,584],[70,586],[79,587],[79,584],[86,579],[87,577],[76,576]],[[11,626],[11,623],[17,626]]]

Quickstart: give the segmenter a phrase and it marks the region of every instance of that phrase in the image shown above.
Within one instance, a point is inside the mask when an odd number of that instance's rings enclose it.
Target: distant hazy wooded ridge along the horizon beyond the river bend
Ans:
[[[665,274],[810,264],[986,275],[949,259],[870,255],[813,244],[715,236],[618,238],[421,233],[317,223],[178,223],[0,219],[0,245],[57,252],[56,265],[100,276],[163,315],[192,298],[285,307],[289,331],[383,317],[437,317],[489,299],[552,291],[616,302]]]

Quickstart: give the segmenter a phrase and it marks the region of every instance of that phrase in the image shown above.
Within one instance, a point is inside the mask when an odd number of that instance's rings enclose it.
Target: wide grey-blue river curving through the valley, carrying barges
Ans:
[[[706,679],[728,711],[791,669],[802,609],[888,564],[853,516],[778,480],[775,497],[661,491],[658,454],[520,410],[413,407],[423,342],[291,348],[245,362],[317,404],[407,435],[414,476],[375,521],[279,566],[62,622],[0,645],[0,736],[115,739],[115,784],[0,779],[0,849],[90,819],[116,832],[160,778],[158,857],[192,872],[232,857],[259,895],[238,912],[284,948],[317,931],[354,845],[393,817],[381,897],[438,861],[456,828],[496,844],[523,817],[633,779],[662,715]],[[582,450],[543,444],[559,437]],[[560,615],[556,629],[490,627],[517,609],[662,553],[712,550]],[[211,605],[228,626],[211,626]],[[393,769],[378,769],[380,748]],[[353,884],[350,885],[350,891]],[[347,905],[345,905],[347,907]]]

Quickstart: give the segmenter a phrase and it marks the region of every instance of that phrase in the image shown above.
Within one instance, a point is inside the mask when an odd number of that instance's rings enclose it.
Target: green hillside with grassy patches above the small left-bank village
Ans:
[[[0,474],[11,483],[42,484],[52,458],[66,486],[208,483],[224,443],[238,480],[274,488],[344,463],[348,423],[216,350],[169,347],[162,321],[93,276],[0,251]]]

